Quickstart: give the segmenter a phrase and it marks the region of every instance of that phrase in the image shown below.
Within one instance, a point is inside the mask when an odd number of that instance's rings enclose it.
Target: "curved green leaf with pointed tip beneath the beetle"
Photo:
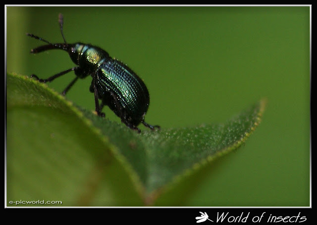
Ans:
[[[7,200],[153,205],[175,181],[241,146],[264,105],[261,100],[224,124],[138,134],[44,84],[8,74]]]

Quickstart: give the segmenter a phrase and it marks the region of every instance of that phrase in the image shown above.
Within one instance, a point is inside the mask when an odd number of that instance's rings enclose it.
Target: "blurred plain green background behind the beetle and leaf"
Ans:
[[[25,35],[62,43],[60,12],[68,43],[98,45],[144,79],[150,124],[225,122],[267,98],[255,133],[204,167],[183,205],[310,205],[310,7],[9,6],[7,72],[47,78],[74,66],[63,51],[30,54],[44,43]],[[48,85],[62,91],[74,76]],[[67,98],[93,110],[90,83],[78,81]]]

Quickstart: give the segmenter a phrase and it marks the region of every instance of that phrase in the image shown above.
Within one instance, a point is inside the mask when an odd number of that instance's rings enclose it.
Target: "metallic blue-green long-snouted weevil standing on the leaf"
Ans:
[[[155,130],[159,126],[152,126],[144,121],[145,114],[150,104],[150,95],[144,82],[126,64],[109,56],[108,52],[102,48],[83,43],[67,44],[63,34],[63,15],[58,16],[60,33],[64,43],[52,44],[36,35],[27,33],[26,35],[47,43],[31,49],[31,53],[39,53],[51,49],[61,49],[67,51],[75,67],[57,73],[47,79],[40,79],[32,74],[31,78],[41,83],[52,82],[54,79],[74,71],[76,77],[63,90],[67,91],[80,79],[87,76],[92,77],[90,92],[95,94],[95,110],[98,116],[105,117],[102,109],[107,105],[127,127],[138,131],[138,125]],[[99,103],[101,100],[101,104]]]

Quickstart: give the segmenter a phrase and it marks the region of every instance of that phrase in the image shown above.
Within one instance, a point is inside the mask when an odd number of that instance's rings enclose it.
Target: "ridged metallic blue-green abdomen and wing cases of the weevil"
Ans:
[[[103,90],[103,93],[98,93],[99,98],[124,123],[137,126],[143,121],[150,103],[149,91],[129,67],[118,60],[109,59],[100,66],[97,79],[99,89]],[[109,94],[115,95],[120,104],[116,105],[116,100]]]

